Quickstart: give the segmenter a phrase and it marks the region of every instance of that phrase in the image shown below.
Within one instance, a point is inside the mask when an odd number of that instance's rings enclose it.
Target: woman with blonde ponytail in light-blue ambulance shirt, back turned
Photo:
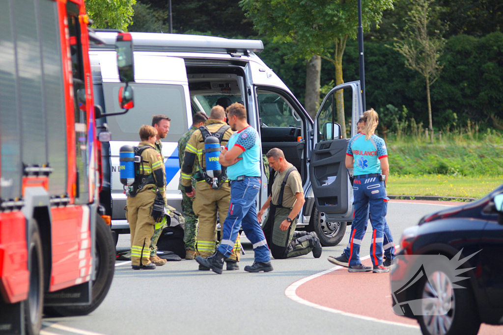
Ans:
[[[365,127],[348,144],[346,167],[353,168],[353,190],[355,196],[355,217],[351,226],[349,272],[383,273],[389,269],[382,265],[384,219],[388,209],[385,182],[389,176],[388,152],[384,140],[374,134],[379,117],[374,109],[363,114]],[[360,261],[360,246],[370,215],[372,243],[370,259],[373,268]]]

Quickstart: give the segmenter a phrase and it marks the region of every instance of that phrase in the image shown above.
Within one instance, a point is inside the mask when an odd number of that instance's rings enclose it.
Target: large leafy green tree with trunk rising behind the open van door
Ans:
[[[241,0],[240,6],[253,20],[255,29],[274,41],[291,43],[292,54],[310,59],[313,55],[335,66],[336,84],[344,83],[343,55],[348,38],[356,38],[356,1],[330,0]],[[379,23],[382,13],[392,8],[392,0],[362,2],[365,30]],[[343,92],[337,94],[337,117],[346,136]]]

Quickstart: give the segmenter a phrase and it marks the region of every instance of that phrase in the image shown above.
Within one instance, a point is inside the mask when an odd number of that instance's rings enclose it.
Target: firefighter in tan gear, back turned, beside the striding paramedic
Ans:
[[[232,135],[232,130],[225,123],[225,110],[222,106],[216,105],[210,110],[210,119],[205,122],[205,131],[200,128],[192,134],[185,148],[182,164],[182,185],[188,197],[194,197],[193,209],[199,218],[199,228],[196,235],[196,252],[203,258],[213,255],[217,241],[217,213],[220,224],[227,217],[230,203],[230,186],[227,180],[226,169],[221,168],[220,176],[214,184],[213,178],[209,177],[206,171],[205,139],[211,134],[218,135],[220,145],[227,145],[227,141]],[[223,128],[225,127],[225,128]],[[203,130],[205,134],[201,131]],[[218,155],[217,155],[218,157]],[[194,171],[196,160],[199,164],[199,171]],[[195,173],[196,188],[192,187],[192,175]],[[223,230],[223,227],[222,227]],[[241,244],[237,238],[232,255],[227,259],[227,270],[239,269],[237,262],[240,259]],[[199,270],[208,271],[208,267],[199,265]]]

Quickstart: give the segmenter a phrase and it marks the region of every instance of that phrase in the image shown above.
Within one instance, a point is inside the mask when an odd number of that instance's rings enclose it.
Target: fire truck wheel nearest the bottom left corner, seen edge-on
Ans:
[[[44,303],[44,263],[42,260],[42,241],[35,219],[28,228],[28,271],[30,287],[28,299],[24,302],[26,330],[29,335],[40,332]]]

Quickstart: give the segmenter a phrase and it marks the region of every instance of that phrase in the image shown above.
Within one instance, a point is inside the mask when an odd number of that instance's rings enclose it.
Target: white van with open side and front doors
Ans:
[[[95,100],[106,111],[120,111],[121,87],[114,43],[116,32],[97,32],[106,45],[90,51]],[[344,108],[352,116],[351,134],[363,115],[360,83],[339,85],[325,96],[315,121],[309,117],[281,79],[257,56],[260,40],[160,33],[131,33],[134,44],[134,108],[126,115],[102,118],[112,133],[103,150],[102,205],[112,216],[116,233],[129,233],[125,219],[126,195],[119,181],[119,148],[137,145],[138,129],[150,124],[152,115],[171,118],[163,140],[166,198],[181,208],[178,190],[180,167],[178,140],[192,125],[197,111],[209,114],[218,98],[240,102],[248,111],[248,123],[261,135],[262,152],[277,147],[300,172],[305,205],[298,226],[314,230],[323,246],[337,245],[353,219],[353,189],[345,166],[348,140],[341,139],[335,94],[345,90]],[[106,144],[105,144],[106,145]],[[264,170],[264,168],[263,168]],[[258,206],[267,199],[267,178],[262,173]]]

